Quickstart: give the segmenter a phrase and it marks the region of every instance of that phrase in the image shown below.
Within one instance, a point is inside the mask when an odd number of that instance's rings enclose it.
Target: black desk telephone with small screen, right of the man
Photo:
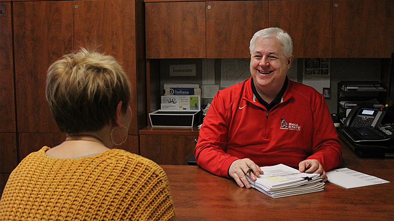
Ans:
[[[394,137],[390,125],[381,125],[386,111],[355,106],[343,121],[342,131],[354,142],[387,141]]]

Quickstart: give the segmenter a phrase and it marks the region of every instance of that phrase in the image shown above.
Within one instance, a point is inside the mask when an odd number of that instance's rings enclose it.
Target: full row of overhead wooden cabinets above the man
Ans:
[[[248,58],[265,27],[288,31],[298,58],[394,51],[394,0],[158,1],[146,3],[147,58]]]

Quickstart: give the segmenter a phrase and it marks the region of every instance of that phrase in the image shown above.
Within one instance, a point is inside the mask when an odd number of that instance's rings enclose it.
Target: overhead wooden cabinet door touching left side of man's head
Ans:
[[[206,2],[206,57],[250,58],[250,39],[267,27],[268,1]]]

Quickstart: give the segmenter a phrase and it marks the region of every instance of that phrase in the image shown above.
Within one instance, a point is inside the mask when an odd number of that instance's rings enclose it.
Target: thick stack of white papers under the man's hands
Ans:
[[[272,197],[279,198],[324,190],[325,183],[318,173],[304,173],[292,167],[278,164],[260,167],[264,174],[260,174],[256,181],[246,176],[250,186]]]

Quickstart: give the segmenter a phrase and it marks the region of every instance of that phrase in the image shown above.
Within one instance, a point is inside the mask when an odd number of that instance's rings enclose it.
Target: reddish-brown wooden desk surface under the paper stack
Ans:
[[[161,165],[175,220],[394,220],[394,159],[359,158],[342,142],[347,167],[389,181],[345,189],[329,182],[317,193],[273,199],[198,166]]]

